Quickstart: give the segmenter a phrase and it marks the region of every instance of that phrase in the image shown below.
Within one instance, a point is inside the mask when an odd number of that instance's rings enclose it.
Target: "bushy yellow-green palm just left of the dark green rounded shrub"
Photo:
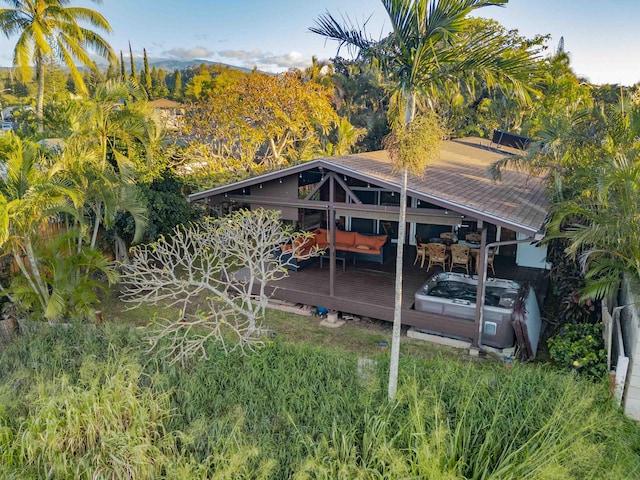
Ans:
[[[135,198],[138,171],[154,174],[154,153],[161,140],[158,118],[142,88],[110,80],[96,88],[74,122],[65,158],[72,178],[86,193],[94,219],[90,245],[96,244],[100,225],[109,226],[120,211],[135,221],[135,239],[146,225],[146,209]],[[136,165],[143,158],[144,167]]]

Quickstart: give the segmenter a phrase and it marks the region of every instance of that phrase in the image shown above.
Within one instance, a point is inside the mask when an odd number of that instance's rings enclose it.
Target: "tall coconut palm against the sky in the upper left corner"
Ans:
[[[100,0],[93,0],[100,3]],[[75,62],[97,72],[95,62],[87,49],[115,63],[115,53],[107,41],[79,22],[111,32],[107,20],[95,10],[68,6],[70,0],[6,0],[13,8],[0,9],[0,30],[9,38],[18,34],[13,51],[13,64],[20,75],[27,78],[30,65],[36,69],[38,97],[36,118],[38,130],[43,131],[44,75],[48,58],[57,58],[69,70],[77,88],[87,93],[87,88]]]

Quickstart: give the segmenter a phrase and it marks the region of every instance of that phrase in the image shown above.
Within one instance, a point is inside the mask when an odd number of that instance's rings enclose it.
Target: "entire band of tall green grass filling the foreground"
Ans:
[[[168,365],[139,330],[53,329],[0,356],[0,478],[627,479],[640,429],[543,367],[388,364],[276,341]]]

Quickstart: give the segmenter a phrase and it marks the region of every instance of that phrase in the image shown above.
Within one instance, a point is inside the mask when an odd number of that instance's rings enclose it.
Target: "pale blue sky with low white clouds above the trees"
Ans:
[[[3,5],[4,3],[4,5]],[[379,38],[390,31],[380,0],[75,0],[102,13],[104,37],[116,52],[149,60],[206,59],[280,72],[304,68],[311,57],[335,56],[337,43],[311,33],[324,12],[367,24]],[[0,0],[0,8],[8,6]],[[592,83],[640,81],[640,0],[510,0],[476,16],[493,18],[525,37],[550,34],[551,53],[564,37],[574,72]],[[0,65],[10,66],[16,37],[0,37]],[[346,52],[343,52],[346,54]],[[346,55],[345,55],[346,56]]]

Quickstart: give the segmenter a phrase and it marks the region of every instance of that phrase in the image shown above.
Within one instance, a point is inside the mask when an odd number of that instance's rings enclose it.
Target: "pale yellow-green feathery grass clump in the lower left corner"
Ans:
[[[204,458],[189,455],[197,423],[168,431],[169,394],[142,387],[142,376],[130,359],[88,357],[73,383],[64,374],[37,378],[23,419],[12,422],[0,408],[0,477],[268,478],[274,462],[254,461],[259,450],[237,425],[213,439]],[[11,401],[5,388],[0,398]]]

